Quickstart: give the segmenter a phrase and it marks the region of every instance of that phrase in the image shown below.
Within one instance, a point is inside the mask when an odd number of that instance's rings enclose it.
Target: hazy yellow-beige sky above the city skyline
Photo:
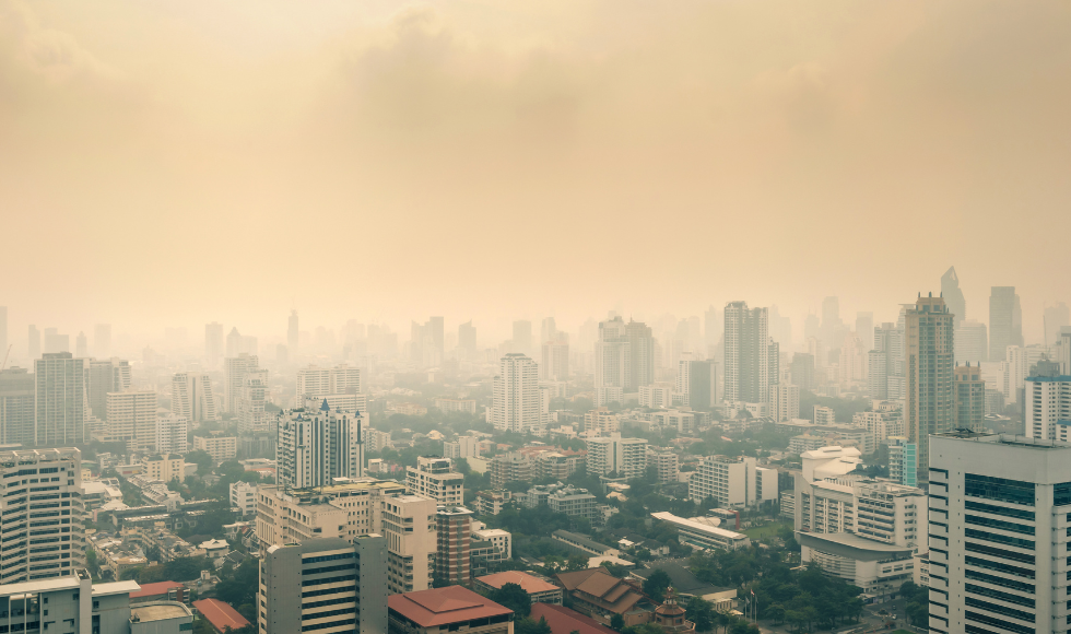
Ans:
[[[282,334],[1071,301],[1071,4],[0,0],[0,304]]]

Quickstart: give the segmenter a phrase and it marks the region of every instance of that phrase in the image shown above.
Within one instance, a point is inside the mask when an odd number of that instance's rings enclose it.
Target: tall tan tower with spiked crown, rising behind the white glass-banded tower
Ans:
[[[905,317],[907,400],[904,423],[907,437],[918,446],[919,476],[926,479],[930,434],[948,432],[954,423],[955,326],[944,300],[932,294],[929,297],[919,295],[915,307],[908,309]]]

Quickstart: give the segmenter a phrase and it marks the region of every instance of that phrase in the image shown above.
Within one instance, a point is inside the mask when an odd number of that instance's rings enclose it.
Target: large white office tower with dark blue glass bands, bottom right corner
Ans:
[[[952,432],[931,448],[930,631],[1066,632],[1071,446]]]

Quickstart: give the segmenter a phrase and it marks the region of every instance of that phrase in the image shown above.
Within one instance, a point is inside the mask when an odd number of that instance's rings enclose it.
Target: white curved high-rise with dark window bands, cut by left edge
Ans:
[[[0,497],[0,585],[67,576],[83,567],[82,453],[72,447],[0,451],[0,476],[5,491]],[[60,512],[60,501],[71,504]]]

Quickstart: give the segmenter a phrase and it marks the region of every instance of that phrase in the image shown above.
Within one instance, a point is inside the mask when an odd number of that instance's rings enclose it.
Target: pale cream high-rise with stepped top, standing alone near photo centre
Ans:
[[[543,415],[534,361],[516,352],[498,361],[491,408],[491,423],[496,430],[523,434],[540,427]]]

